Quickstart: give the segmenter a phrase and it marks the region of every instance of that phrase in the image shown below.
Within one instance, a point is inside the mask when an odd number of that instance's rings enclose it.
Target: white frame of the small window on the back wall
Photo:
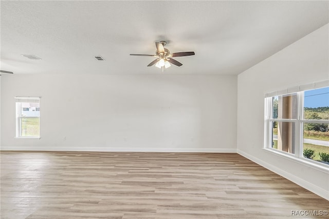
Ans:
[[[38,116],[25,116],[22,117],[22,103],[39,102],[41,97],[15,97],[15,108],[16,108],[16,139],[40,139],[40,113]],[[40,109],[39,109],[40,112]],[[22,136],[22,118],[39,118],[39,135],[38,136]]]

